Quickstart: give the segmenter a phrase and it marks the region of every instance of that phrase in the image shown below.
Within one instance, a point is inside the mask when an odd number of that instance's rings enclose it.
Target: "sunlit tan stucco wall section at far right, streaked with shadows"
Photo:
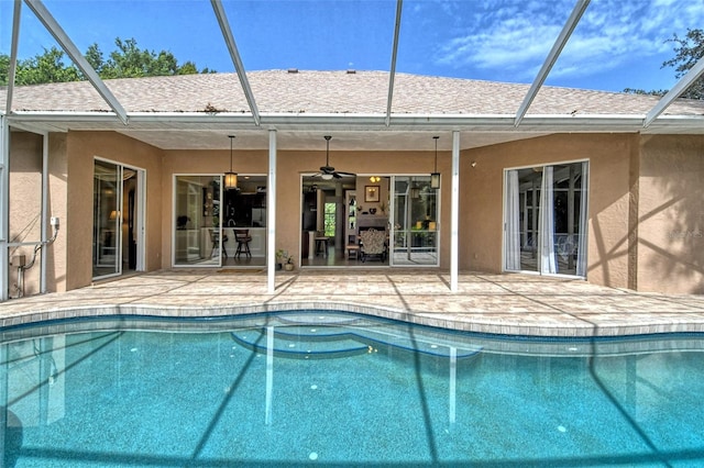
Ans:
[[[637,289],[704,293],[704,137],[644,136],[638,186]]]

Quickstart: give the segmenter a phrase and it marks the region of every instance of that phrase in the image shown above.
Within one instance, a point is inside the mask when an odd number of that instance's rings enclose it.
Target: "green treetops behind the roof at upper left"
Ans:
[[[198,74],[194,62],[178,64],[174,54],[162,51],[141,49],[134,38],[116,38],[117,49],[106,59],[98,44],[92,44],[86,51],[88,64],[102,79],[135,78],[148,76],[193,75]],[[85,79],[80,70],[70,63],[64,62],[65,54],[57,47],[44,48],[43,54],[32,58],[18,59],[15,68],[15,85],[38,85],[46,82],[66,82]],[[9,79],[10,57],[0,54],[0,86],[7,86]],[[204,68],[200,73],[213,73]]]

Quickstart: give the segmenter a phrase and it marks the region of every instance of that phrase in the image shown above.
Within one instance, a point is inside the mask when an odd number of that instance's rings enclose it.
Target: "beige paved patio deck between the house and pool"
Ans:
[[[0,304],[0,326],[79,315],[216,316],[340,310],[461,331],[532,336],[704,332],[704,296],[639,293],[574,279],[437,270],[164,270]]]

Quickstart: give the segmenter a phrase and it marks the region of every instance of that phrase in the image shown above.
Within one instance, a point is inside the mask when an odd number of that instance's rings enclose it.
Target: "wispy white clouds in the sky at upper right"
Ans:
[[[453,35],[436,63],[453,68],[512,71],[531,79],[564,26],[572,1],[457,2]],[[449,9],[447,5],[443,7]],[[471,21],[469,20],[471,19]],[[593,0],[565,45],[551,76],[614,69],[634,58],[672,51],[666,40],[704,24],[704,9],[691,0]]]

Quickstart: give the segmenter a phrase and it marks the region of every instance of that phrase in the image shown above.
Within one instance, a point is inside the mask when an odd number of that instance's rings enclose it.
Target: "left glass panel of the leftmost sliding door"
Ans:
[[[120,203],[122,170],[111,163],[96,160],[94,169],[94,278],[120,275]]]

